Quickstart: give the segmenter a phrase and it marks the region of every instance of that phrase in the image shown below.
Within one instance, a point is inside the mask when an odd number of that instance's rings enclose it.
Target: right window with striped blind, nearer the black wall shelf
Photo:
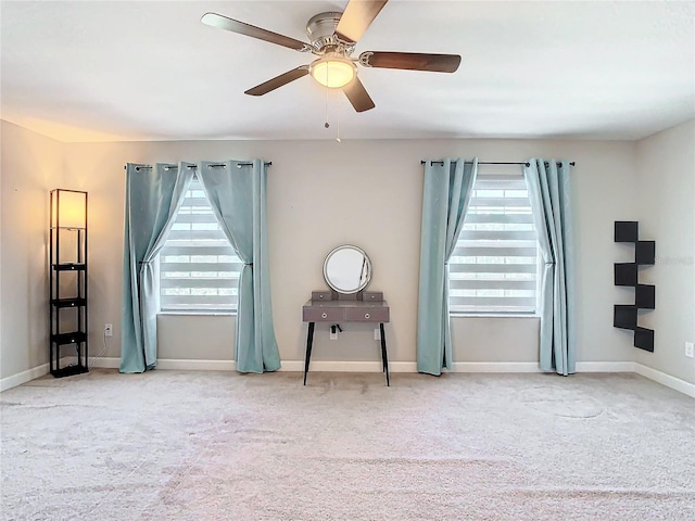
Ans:
[[[534,314],[538,271],[523,176],[479,174],[450,260],[450,310]]]

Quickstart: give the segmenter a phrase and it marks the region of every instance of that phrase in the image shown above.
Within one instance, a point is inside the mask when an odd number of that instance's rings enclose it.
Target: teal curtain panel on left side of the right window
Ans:
[[[478,158],[428,161],[422,190],[420,283],[417,312],[417,370],[451,369],[448,259],[464,226]]]

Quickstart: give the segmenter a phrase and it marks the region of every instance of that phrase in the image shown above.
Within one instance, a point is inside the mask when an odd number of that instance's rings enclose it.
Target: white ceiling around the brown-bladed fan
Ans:
[[[357,114],[311,77],[244,90],[309,54],[203,25],[207,11],[306,40],[342,1],[5,1],[2,118],[61,141],[639,139],[695,117],[695,2],[391,0],[355,53],[463,56],[454,74],[359,68]],[[324,127],[328,114],[331,126]]]

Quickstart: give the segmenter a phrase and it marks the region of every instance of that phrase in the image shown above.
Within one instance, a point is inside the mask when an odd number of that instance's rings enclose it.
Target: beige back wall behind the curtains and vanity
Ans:
[[[387,327],[390,358],[415,360],[420,206],[424,157],[472,156],[519,161],[568,157],[574,168],[577,212],[578,359],[631,360],[633,348],[612,328],[612,221],[636,218],[634,144],[631,142],[422,140],[422,141],[205,141],[66,144],[66,175],[90,192],[90,322],[101,332],[114,323],[108,356],[117,357],[126,162],[178,162],[264,157],[268,181],[268,229],[275,328],[283,360],[301,360],[306,326],[301,306],[325,288],[324,256],[337,244],[365,249],[375,267],[371,288],[392,308]],[[288,259],[291,259],[288,262]],[[212,323],[219,326],[212,326]],[[224,317],[165,317],[161,358],[230,359],[231,346],[215,345],[233,330]],[[374,331],[351,323],[329,341],[317,327],[317,360],[376,360]],[[184,336],[179,333],[188,333]],[[198,333],[197,333],[198,332]],[[97,334],[97,333],[94,333]],[[198,335],[195,343],[189,339]],[[454,319],[455,361],[536,361],[534,319]],[[100,336],[93,341],[101,341]]]

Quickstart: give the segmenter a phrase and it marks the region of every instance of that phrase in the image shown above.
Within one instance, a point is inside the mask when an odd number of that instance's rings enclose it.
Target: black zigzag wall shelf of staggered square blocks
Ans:
[[[612,325],[616,328],[634,332],[633,345],[644,351],[654,352],[654,331],[637,326],[640,309],[654,309],[656,290],[654,285],[639,282],[640,266],[653,266],[656,259],[655,241],[641,241],[639,223],[634,220],[617,220],[615,223],[615,242],[634,244],[634,263],[616,263],[614,265],[614,283],[619,287],[634,288],[634,305],[617,304],[614,306]]]

